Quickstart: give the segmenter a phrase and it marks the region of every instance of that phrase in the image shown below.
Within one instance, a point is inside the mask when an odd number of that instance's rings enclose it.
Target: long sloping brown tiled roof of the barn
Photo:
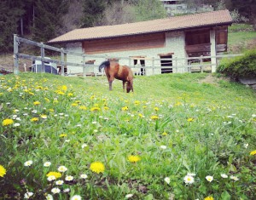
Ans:
[[[231,25],[229,10],[218,10],[200,14],[188,14],[160,20],[148,20],[113,26],[96,26],[69,31],[48,43],[70,43],[91,39],[123,37],[161,31],[179,31],[190,28]]]

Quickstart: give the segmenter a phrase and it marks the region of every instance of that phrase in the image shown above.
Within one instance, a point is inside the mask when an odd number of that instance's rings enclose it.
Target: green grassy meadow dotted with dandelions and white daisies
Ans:
[[[0,77],[0,199],[256,199],[256,94],[216,75]]]

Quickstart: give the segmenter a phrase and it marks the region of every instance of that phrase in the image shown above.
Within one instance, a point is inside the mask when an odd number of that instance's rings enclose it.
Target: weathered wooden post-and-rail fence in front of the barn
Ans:
[[[35,56],[35,55],[30,55],[30,54],[21,54],[19,52],[19,45],[20,43],[26,43],[28,45],[36,46],[40,48],[41,56]],[[49,49],[55,52],[60,53],[60,60],[53,60],[53,59],[48,59],[45,58],[44,50]],[[65,56],[67,54],[72,54],[75,56],[79,56],[81,63],[73,63],[73,62],[67,62],[65,59]],[[217,55],[217,56],[200,56],[200,57],[187,57],[187,58],[177,58],[174,57],[172,59],[160,59],[160,58],[136,58],[136,60],[147,60],[147,62],[151,63],[150,66],[143,66],[143,65],[134,65],[133,60],[135,60],[134,57],[114,57],[115,60],[128,60],[129,66],[133,69],[133,71],[137,71],[137,75],[145,75],[145,71],[148,69],[151,69],[152,74],[154,75],[154,71],[156,70],[162,70],[165,69],[165,72],[181,72],[181,71],[186,71],[186,72],[193,72],[193,71],[205,71],[206,68],[212,69],[214,67],[215,69],[218,67],[218,61],[216,64],[212,64],[211,62],[206,60],[220,60],[222,58],[231,58],[235,56],[241,56],[242,54],[222,54],[222,55]],[[42,62],[42,72],[45,72],[45,66],[44,62],[51,62],[51,63],[56,63],[58,66],[61,66],[61,76],[64,76],[64,67],[69,66],[72,68],[72,66],[79,66],[83,68],[83,76],[86,76],[85,69],[86,67],[94,67],[94,74],[95,76],[98,73],[98,66],[94,64],[88,64],[85,61],[86,59],[99,59],[99,60],[108,60],[111,59],[108,57],[108,55],[94,55],[94,54],[82,54],[82,53],[77,53],[77,52],[72,52],[68,51],[67,49],[58,49],[49,45],[46,45],[44,43],[36,43],[34,41],[18,37],[17,35],[14,35],[14,64],[15,64],[15,69],[14,72],[15,74],[19,73],[19,58],[23,59],[28,59],[28,60],[39,60]],[[82,58],[82,59],[81,59]],[[161,61],[165,61],[165,64],[167,66],[161,66],[160,63]],[[183,62],[183,65],[178,65],[179,62]]]

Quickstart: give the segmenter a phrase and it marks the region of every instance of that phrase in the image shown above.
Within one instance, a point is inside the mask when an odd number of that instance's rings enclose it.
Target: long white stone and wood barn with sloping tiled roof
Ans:
[[[88,54],[94,65],[99,65],[108,56],[125,57],[127,59],[120,59],[119,63],[131,67],[150,67],[152,59],[158,59],[160,66],[172,68],[173,58],[215,56],[227,51],[228,26],[231,24],[229,10],[219,10],[130,24],[75,29],[48,43],[62,44],[67,50]],[[87,59],[88,62],[90,60]],[[82,63],[83,58],[67,55],[67,61]],[[177,60],[176,65],[188,65],[186,62],[188,60]],[[211,59],[211,62],[212,71],[215,71],[216,59]],[[184,72],[181,70],[183,69],[171,72]],[[79,73],[83,69],[71,67],[69,71]],[[163,72],[165,71],[159,71]],[[150,75],[149,70],[147,74]]]

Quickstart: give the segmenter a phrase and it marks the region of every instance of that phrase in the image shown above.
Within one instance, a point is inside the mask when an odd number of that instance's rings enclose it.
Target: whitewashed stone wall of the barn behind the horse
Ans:
[[[148,41],[148,43],[150,43],[150,42]],[[125,59],[119,60],[119,64],[130,66],[130,65],[133,65],[133,60],[129,61],[129,59],[128,59],[129,57],[144,56],[145,57],[145,66],[150,67],[150,66],[152,66],[152,58],[159,59],[160,58],[159,54],[173,53],[172,58],[186,57],[185,50],[184,50],[185,42],[184,42],[183,31],[166,32],[164,43],[165,43],[165,45],[156,46],[154,48],[150,47],[150,48],[145,48],[145,49],[137,49],[137,48],[136,49],[125,49],[124,51],[118,50],[116,52],[110,51],[108,53],[103,52],[103,53],[96,54],[96,55],[102,55],[102,56],[104,56],[104,58],[96,58],[96,57],[93,57],[92,54],[90,54],[90,58],[86,58],[85,60],[96,60],[94,64],[96,66],[99,66],[102,63],[102,61],[106,60],[105,59],[106,56],[108,56],[108,58],[126,57],[127,60],[125,60]],[[76,43],[76,45],[73,45],[73,44],[67,45],[67,50],[72,50],[72,51],[76,51],[76,52],[80,53],[83,51],[83,49],[86,49],[86,48],[82,47],[83,45],[82,45],[82,43]],[[144,43],[143,43],[143,45],[144,45]],[[87,54],[86,51],[84,53]],[[67,57],[67,61],[75,61],[75,60],[76,60],[76,62],[81,62],[82,58],[78,59],[77,56],[73,56],[73,55],[70,55]],[[160,66],[160,61],[155,61],[154,65]],[[173,63],[173,65],[174,65],[174,63]],[[177,60],[177,66],[183,66],[183,65],[184,65],[183,60]],[[133,69],[133,71],[136,71],[138,69],[139,68]],[[93,72],[94,70],[97,70],[97,69],[93,69],[93,68],[89,67],[89,69],[87,69],[86,72]],[[83,69],[81,67],[77,67],[76,70],[74,70],[74,68],[71,68],[71,71],[72,71],[72,73],[73,72],[81,73],[81,72],[83,72]],[[69,69],[68,69],[68,72],[69,72]],[[178,69],[176,71],[174,68],[173,72],[184,72],[184,71],[182,71],[182,69]],[[147,75],[153,74],[153,70],[147,69],[146,74]],[[154,74],[160,74],[160,69],[155,69]]]

